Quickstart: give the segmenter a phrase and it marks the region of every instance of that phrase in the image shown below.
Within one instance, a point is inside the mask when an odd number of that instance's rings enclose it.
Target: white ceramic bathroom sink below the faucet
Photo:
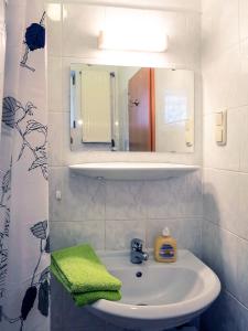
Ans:
[[[188,250],[179,250],[174,264],[157,263],[152,254],[142,265],[131,264],[129,252],[98,255],[121,279],[122,299],[98,300],[87,309],[121,328],[159,331],[182,325],[207,309],[220,291],[214,271]]]

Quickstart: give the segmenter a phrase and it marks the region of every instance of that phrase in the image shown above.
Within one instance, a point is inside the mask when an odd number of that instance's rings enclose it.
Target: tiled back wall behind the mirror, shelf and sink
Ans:
[[[163,1],[160,2],[160,4]],[[198,3],[198,1],[196,1]],[[190,2],[188,2],[190,3]],[[159,6],[159,1],[155,6]],[[179,2],[175,2],[177,6]],[[184,3],[185,4],[185,3]],[[191,2],[192,4],[192,2]],[[182,11],[136,11],[79,3],[64,6],[58,21],[48,19],[50,109],[50,221],[52,249],[89,242],[97,249],[129,248],[134,236],[152,247],[154,237],[169,225],[180,248],[201,255],[202,174],[195,172],[164,181],[98,181],[73,175],[67,166],[110,160],[159,160],[201,163],[201,82],[198,7]],[[123,12],[122,12],[123,10]],[[170,51],[164,54],[114,53],[96,50],[99,22],[136,14],[151,15],[166,24]],[[60,19],[64,17],[64,21]],[[104,19],[103,19],[104,18]],[[71,152],[69,64],[76,62],[161,65],[192,68],[196,73],[196,149],[193,154]],[[62,200],[55,197],[62,192]],[[118,330],[75,308],[68,295],[53,281],[53,331]],[[66,318],[64,318],[66,317]]]

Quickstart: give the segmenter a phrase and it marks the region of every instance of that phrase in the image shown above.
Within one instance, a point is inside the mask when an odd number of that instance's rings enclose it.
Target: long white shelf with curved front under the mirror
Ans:
[[[161,180],[193,172],[198,166],[150,163],[150,162],[105,162],[69,166],[78,174],[106,180]]]

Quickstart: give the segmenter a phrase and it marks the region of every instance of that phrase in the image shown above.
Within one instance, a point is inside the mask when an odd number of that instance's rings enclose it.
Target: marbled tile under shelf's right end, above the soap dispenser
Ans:
[[[202,216],[201,172],[147,182],[148,218]]]

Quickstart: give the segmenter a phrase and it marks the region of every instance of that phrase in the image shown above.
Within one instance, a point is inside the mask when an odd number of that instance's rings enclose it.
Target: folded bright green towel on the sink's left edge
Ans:
[[[121,298],[121,281],[107,271],[89,245],[52,253],[51,271],[73,296],[77,306],[98,299]]]

